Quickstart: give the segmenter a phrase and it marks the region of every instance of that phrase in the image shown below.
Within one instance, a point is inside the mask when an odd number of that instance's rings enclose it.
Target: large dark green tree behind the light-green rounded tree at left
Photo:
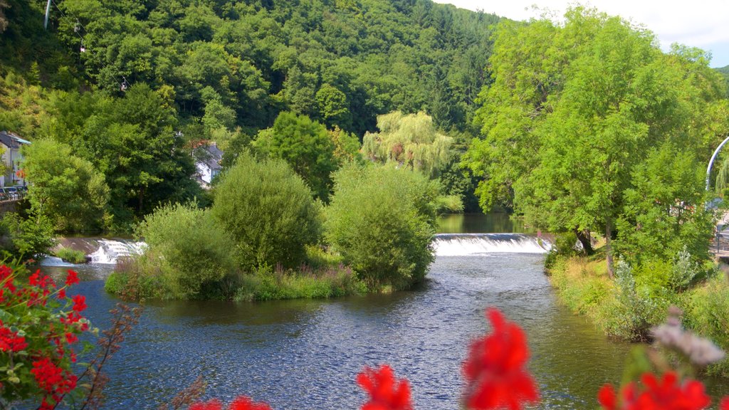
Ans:
[[[124,98],[69,93],[54,99],[51,111],[48,134],[104,174],[114,227],[160,204],[200,196],[192,155],[174,132],[175,112],[163,93],[144,84],[133,85]]]

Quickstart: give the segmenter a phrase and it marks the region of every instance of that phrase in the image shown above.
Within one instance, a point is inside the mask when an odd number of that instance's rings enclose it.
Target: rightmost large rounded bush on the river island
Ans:
[[[327,208],[327,240],[370,288],[420,282],[433,260],[439,187],[394,166],[344,166]]]

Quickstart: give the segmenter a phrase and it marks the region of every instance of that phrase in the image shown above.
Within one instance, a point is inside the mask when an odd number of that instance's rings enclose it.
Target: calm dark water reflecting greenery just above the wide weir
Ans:
[[[523,220],[504,212],[445,214],[438,217],[438,233],[537,233]]]

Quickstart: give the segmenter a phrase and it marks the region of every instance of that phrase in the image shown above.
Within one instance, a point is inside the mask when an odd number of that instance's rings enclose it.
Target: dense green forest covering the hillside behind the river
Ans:
[[[495,15],[429,0],[65,0],[44,29],[45,4],[0,2],[0,129],[92,163],[114,228],[203,197],[186,182],[191,147],[237,152],[281,112],[360,142],[378,115],[426,112],[455,139],[437,174],[477,209],[458,163]]]

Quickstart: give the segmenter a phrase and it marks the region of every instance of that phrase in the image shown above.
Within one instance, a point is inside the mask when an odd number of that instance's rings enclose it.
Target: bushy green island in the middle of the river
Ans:
[[[350,163],[331,204],[283,161],[241,154],[210,209],[157,209],[139,226],[148,249],[106,281],[138,298],[265,300],[399,290],[433,260],[440,186],[394,166]],[[326,240],[325,240],[326,238]]]

